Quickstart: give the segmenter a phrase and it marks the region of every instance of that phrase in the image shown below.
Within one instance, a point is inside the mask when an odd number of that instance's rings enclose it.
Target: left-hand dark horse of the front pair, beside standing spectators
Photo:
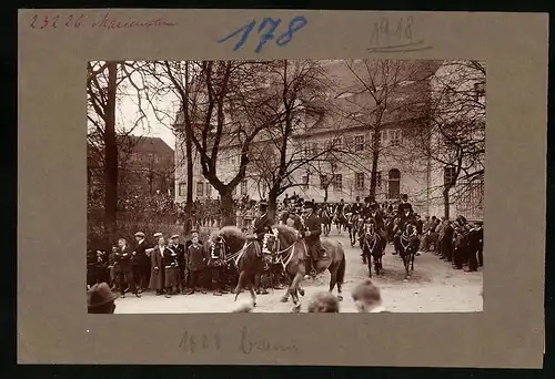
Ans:
[[[249,287],[253,306],[256,306],[255,277],[269,266],[264,259],[261,247],[255,240],[249,239],[235,226],[224,226],[212,233],[209,244],[216,254],[225,257],[225,262],[233,262],[239,279],[235,290],[235,300],[243,288]]]

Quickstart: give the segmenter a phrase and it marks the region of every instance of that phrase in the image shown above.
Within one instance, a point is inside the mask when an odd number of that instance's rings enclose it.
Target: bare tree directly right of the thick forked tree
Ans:
[[[324,160],[325,146],[311,146],[311,131],[322,124],[327,91],[317,61],[279,60],[266,64],[270,85],[259,115],[268,125],[261,141],[252,145],[252,170],[268,188],[269,213],[274,215],[278,197],[286,190],[305,186],[295,181],[299,172],[309,180],[315,164]]]

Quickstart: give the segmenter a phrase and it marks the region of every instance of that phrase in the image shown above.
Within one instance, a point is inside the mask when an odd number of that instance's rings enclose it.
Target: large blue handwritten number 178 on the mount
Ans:
[[[281,21],[282,21],[281,19],[274,20],[274,19],[268,18],[268,17],[264,20],[262,20],[262,22],[259,24],[259,29],[258,29],[258,32],[260,35],[259,44],[254,49],[254,52],[260,53],[262,51],[262,48],[264,47],[264,44],[266,44],[268,41],[274,39],[274,37],[275,37],[274,32],[278,29],[278,27],[281,24]],[[289,22],[287,31],[280,34],[275,39],[275,43],[279,47],[283,47],[283,45],[290,43],[293,40],[293,33],[296,32],[297,30],[301,30],[302,28],[304,28],[306,25],[306,22],[307,22],[306,19],[302,16],[297,16],[297,17],[293,18]],[[249,39],[249,35],[251,35],[251,32],[255,25],[256,25],[256,20],[252,20],[250,23],[235,30],[231,34],[218,40],[218,43],[223,43],[223,42],[232,39],[233,37],[242,33],[241,39],[233,48],[233,51],[238,51],[246,42],[246,40]]]

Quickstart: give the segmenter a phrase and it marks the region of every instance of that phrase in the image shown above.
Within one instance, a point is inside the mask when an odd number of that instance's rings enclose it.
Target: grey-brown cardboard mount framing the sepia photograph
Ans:
[[[541,367],[547,30],[539,13],[21,10],[19,362]],[[85,63],[278,58],[487,62],[483,313],[87,314]]]

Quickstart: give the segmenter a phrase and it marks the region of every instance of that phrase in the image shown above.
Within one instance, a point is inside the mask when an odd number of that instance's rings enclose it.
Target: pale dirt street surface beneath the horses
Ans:
[[[343,285],[342,313],[356,311],[351,298],[352,288],[367,276],[367,266],[362,264],[360,249],[351,247],[349,238],[343,233],[339,236],[332,232],[331,238],[343,243],[346,254],[346,273]],[[414,273],[411,279],[403,281],[404,268],[401,258],[392,255],[393,246],[389,245],[383,257],[382,275],[373,274],[374,281],[382,289],[384,306],[396,313],[452,313],[452,311],[482,311],[483,299],[482,272],[465,273],[451,268],[451,265],[441,260],[433,253],[423,253],[417,256]],[[320,290],[327,290],[329,273],[316,279],[304,280],[305,296],[302,300],[302,311],[306,311],[310,297]],[[269,295],[258,296],[255,313],[289,313],[292,303],[281,303],[284,289],[270,290]],[[334,290],[336,294],[336,289]],[[117,314],[184,314],[184,313],[229,313],[238,306],[234,295],[213,296],[211,293],[190,296],[175,295],[172,298],[154,296],[145,293],[141,298],[128,296],[117,300]],[[250,299],[249,291],[239,296],[238,301]]]

